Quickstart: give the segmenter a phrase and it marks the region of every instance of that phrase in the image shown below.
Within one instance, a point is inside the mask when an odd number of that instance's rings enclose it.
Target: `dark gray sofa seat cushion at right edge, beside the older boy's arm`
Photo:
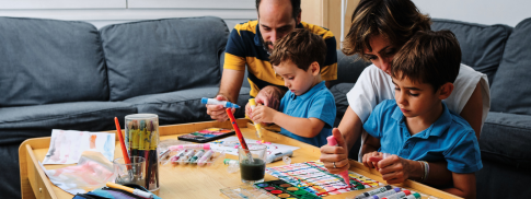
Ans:
[[[482,160],[531,169],[531,116],[488,113],[480,137]]]

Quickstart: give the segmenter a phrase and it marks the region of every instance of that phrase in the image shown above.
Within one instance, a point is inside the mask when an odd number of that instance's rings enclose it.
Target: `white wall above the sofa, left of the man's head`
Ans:
[[[163,17],[213,15],[235,24],[256,19],[252,0],[0,0],[0,16],[108,24]]]

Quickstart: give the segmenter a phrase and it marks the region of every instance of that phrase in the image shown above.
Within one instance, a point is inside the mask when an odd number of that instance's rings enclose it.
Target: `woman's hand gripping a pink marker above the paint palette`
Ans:
[[[334,128],[332,134],[337,141],[337,147],[324,144],[321,147],[321,162],[332,174],[339,174],[350,167],[348,163],[348,150],[339,129]],[[334,167],[335,163],[335,167]]]

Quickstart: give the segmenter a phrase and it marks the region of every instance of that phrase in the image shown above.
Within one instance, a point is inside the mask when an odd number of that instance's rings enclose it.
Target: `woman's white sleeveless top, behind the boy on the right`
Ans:
[[[490,109],[490,91],[488,87],[487,75],[475,71],[471,67],[461,63],[459,75],[453,82],[452,94],[443,99],[448,108],[455,114],[460,114],[470,96],[480,83],[483,98],[482,128]],[[361,122],[365,122],[372,109],[384,99],[394,98],[394,84],[391,75],[386,74],[374,65],[367,67],[358,78],[354,87],[347,93],[348,105],[358,115]],[[361,145],[367,139],[367,132],[361,134]],[[359,150],[358,161],[361,162],[361,149]]]

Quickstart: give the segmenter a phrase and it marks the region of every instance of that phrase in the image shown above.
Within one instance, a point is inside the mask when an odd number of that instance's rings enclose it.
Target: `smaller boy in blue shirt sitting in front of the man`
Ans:
[[[336,108],[321,80],[326,45],[308,30],[296,30],[277,40],[269,57],[273,69],[289,89],[278,112],[258,105],[249,114],[254,122],[275,122],[280,133],[318,148],[332,134]]]

